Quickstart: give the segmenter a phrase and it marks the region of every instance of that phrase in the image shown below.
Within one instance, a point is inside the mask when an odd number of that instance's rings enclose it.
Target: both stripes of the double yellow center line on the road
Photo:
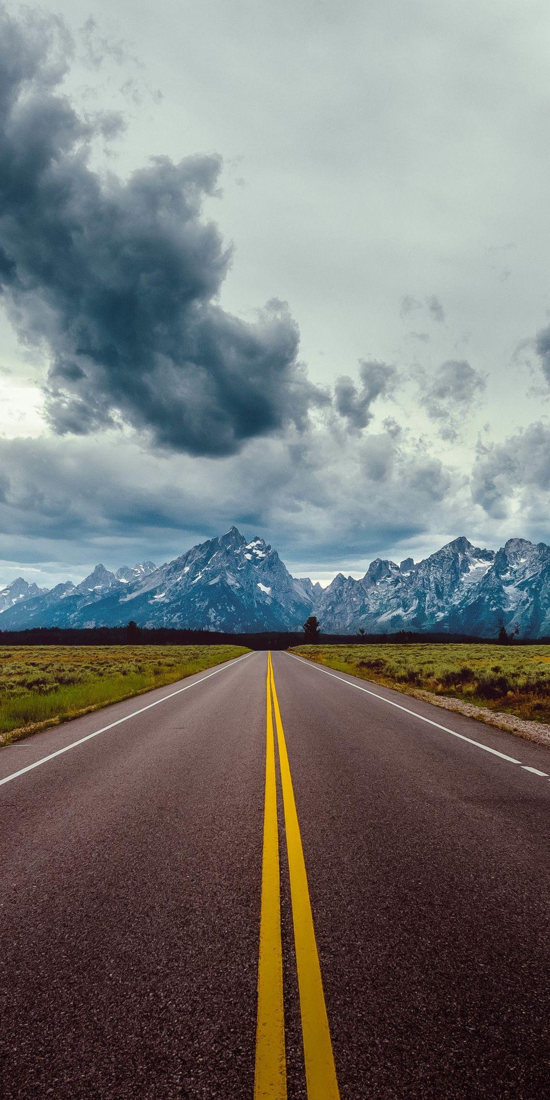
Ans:
[[[264,1100],[264,1098],[286,1100],[287,1097],[273,712],[275,713],[283,790],[307,1096],[308,1100],[339,1100],[340,1093],[315,938],[306,864],[271,653],[267,656],[266,702],[267,739],[254,1100]]]

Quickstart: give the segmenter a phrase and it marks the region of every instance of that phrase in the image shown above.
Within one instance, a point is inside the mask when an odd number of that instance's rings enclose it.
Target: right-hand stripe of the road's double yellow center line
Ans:
[[[296,964],[300,994],[307,1094],[308,1100],[340,1100],[329,1021],[322,991],[321,968],[315,938],[304,849],[286,751],[285,734],[280,719],[277,692],[275,690],[271,653],[267,658],[267,670],[275,708],[283,805],[285,810],[286,846],[290,872],[290,899],[293,903],[294,942],[296,945]]]

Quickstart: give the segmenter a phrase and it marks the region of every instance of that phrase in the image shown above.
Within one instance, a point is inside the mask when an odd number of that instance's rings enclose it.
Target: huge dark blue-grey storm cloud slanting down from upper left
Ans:
[[[117,120],[79,117],[56,85],[70,40],[55,20],[0,8],[0,282],[25,341],[51,358],[58,435],[125,422],[191,454],[223,455],[327,402],[272,300],[255,323],[217,302],[230,253],[205,223],[217,156],[154,158],[128,182],[91,170]]]

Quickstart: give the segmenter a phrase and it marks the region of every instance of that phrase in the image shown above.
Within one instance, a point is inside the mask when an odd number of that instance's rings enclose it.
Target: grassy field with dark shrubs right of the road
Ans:
[[[298,646],[294,652],[414,694],[418,689],[550,724],[550,646]]]

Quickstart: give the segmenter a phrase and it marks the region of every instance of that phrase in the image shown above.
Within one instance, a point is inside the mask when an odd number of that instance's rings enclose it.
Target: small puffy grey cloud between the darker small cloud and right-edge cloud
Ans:
[[[425,408],[431,420],[440,421],[443,439],[458,438],[460,422],[484,388],[485,378],[466,360],[447,360],[430,381],[424,377]]]

